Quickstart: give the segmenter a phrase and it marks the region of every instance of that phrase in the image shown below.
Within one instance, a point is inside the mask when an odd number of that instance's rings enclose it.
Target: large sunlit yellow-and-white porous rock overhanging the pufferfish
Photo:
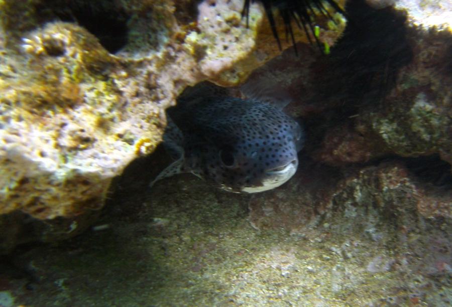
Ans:
[[[187,85],[237,85],[279,53],[274,41],[256,50],[258,35],[273,40],[261,5],[251,5],[248,27],[242,8],[239,0],[0,2],[0,216],[14,214],[2,216],[0,253],[41,237],[30,231],[40,227],[11,227],[21,224],[16,211],[58,234],[44,241],[85,229],[111,180],[160,142],[164,110]],[[344,25],[323,37],[331,44]],[[52,223],[58,217],[67,220]]]

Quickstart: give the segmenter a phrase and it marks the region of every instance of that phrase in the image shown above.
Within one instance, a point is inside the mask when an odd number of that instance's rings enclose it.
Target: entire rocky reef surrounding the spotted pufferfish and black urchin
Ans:
[[[315,18],[329,55],[280,52],[259,2],[248,28],[243,1],[101,3],[0,1],[0,305],[452,302],[450,1],[349,1]],[[289,182],[148,188],[203,80],[287,93]]]

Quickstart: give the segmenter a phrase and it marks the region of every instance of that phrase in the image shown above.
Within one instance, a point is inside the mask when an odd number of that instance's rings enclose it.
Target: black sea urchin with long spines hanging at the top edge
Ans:
[[[309,40],[309,43],[311,44],[313,44],[313,41],[311,39],[311,34],[309,34],[308,28],[311,31],[311,33],[314,33],[314,26],[310,20],[310,16],[311,15],[314,16],[314,8],[320,11],[326,18],[334,21],[331,15],[326,10],[326,8],[323,6],[321,0],[256,0],[256,1],[259,1],[264,6],[265,13],[267,14],[267,18],[273,32],[273,36],[275,37],[280,50],[281,42],[279,40],[278,32],[276,31],[276,23],[273,17],[273,8],[278,9],[279,15],[284,21],[286,37],[288,38],[288,36],[290,35],[292,44],[294,45],[295,48],[295,52],[296,52],[295,38],[291,26],[292,19],[295,20],[298,28],[300,29],[303,28]],[[247,18],[247,27],[250,14],[250,4],[254,2],[255,0],[245,0],[243,6],[242,17],[245,16]],[[328,3],[336,12],[341,13],[342,15],[345,16],[344,10],[341,9],[341,7],[338,6],[338,4],[335,1],[325,0],[325,2]],[[314,35],[313,37],[317,46],[321,50],[321,45],[317,36]]]

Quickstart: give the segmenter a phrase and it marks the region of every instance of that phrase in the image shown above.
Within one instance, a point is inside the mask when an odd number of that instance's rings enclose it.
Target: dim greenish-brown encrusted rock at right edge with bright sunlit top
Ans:
[[[437,153],[451,163],[452,91],[449,84],[452,84],[452,29],[444,24],[442,18],[423,19],[425,23],[422,26],[419,25],[421,21],[414,21],[415,12],[429,11],[435,7],[432,4],[415,5],[410,2],[406,8],[404,3],[397,2],[395,9],[407,14],[405,43],[392,46],[393,51],[386,59],[388,72],[377,78],[377,82],[383,82],[380,86],[390,88],[390,84],[384,83],[391,82],[391,78],[395,85],[378,99],[369,99],[369,95],[362,97],[362,101],[367,102],[356,111],[353,129],[366,139],[371,139],[371,143],[380,145],[380,150],[373,151],[377,154],[375,157],[382,151],[403,157]],[[445,3],[450,5],[450,2],[442,2],[443,5]],[[437,16],[450,14],[450,10],[442,10],[441,7],[435,7]],[[416,8],[415,12],[413,8]],[[403,54],[407,64],[397,68],[394,58],[402,59]],[[347,134],[350,135],[350,130],[342,136]]]

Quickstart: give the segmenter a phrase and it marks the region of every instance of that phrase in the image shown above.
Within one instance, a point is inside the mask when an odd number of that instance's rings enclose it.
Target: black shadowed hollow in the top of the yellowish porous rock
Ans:
[[[116,53],[128,43],[131,16],[115,0],[70,0],[43,2],[35,6],[39,15],[76,23],[99,40],[109,52]]]

